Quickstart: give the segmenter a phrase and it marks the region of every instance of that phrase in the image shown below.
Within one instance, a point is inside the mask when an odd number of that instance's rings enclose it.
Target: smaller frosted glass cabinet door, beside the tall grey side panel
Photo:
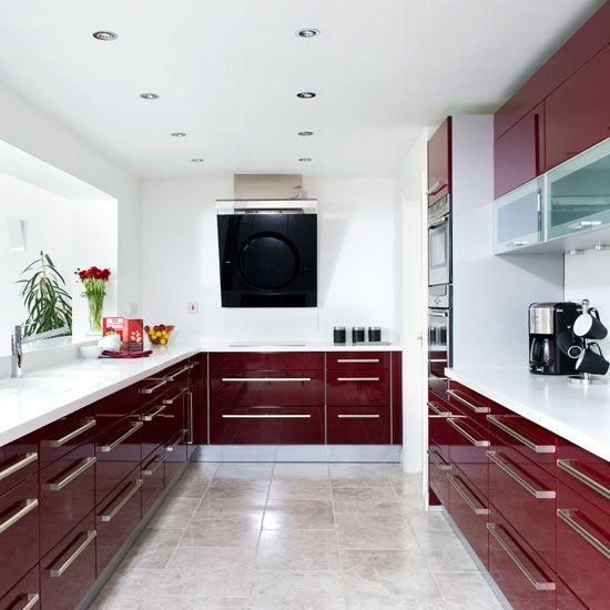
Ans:
[[[496,254],[531,246],[543,240],[541,183],[532,180],[494,202]]]

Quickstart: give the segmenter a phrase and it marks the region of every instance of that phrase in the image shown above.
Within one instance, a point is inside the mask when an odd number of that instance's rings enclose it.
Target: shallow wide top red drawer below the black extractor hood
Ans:
[[[319,352],[234,352],[210,354],[210,370],[305,370],[324,369]]]

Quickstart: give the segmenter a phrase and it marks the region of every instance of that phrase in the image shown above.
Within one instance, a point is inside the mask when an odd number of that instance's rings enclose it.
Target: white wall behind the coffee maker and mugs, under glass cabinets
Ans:
[[[566,254],[566,301],[588,298],[610,328],[610,252],[587,250],[578,256]],[[599,342],[610,359],[610,337]]]

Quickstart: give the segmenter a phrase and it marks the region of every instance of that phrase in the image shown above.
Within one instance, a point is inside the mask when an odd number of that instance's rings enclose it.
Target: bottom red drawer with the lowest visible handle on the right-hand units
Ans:
[[[488,570],[515,610],[555,610],[557,575],[490,506]]]

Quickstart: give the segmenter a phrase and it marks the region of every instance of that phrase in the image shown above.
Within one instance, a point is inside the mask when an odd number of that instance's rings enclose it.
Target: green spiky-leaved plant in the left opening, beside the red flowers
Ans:
[[[38,335],[54,328],[68,326],[72,332],[72,297],[67,291],[65,279],[48,254],[40,256],[22,272],[17,284],[22,284],[21,297],[28,309],[28,326],[24,336]]]

